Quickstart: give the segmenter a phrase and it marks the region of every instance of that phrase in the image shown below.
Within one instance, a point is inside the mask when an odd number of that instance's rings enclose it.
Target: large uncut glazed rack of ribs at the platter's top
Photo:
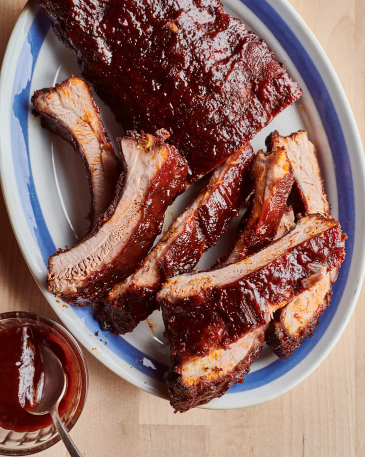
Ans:
[[[301,95],[220,0],[39,0],[125,129],[169,131],[194,181]]]

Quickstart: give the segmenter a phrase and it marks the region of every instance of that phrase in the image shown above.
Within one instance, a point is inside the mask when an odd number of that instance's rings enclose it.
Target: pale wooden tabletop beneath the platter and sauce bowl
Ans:
[[[364,0],[290,2],[331,60],[364,140]],[[0,0],[0,59],[24,3]],[[31,277],[0,199],[0,312],[30,310],[58,320]],[[363,456],[364,298],[365,289],[339,342],[314,373],[281,397],[250,408],[173,414],[167,401],[118,378],[85,351],[90,387],[71,436],[87,457]],[[67,452],[57,443],[41,455]]]

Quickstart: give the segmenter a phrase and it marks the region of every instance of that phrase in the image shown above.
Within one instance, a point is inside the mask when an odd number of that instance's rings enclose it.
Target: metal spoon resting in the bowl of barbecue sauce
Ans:
[[[44,371],[43,390],[36,408],[33,410],[26,410],[30,414],[35,415],[47,414],[49,412],[54,426],[71,457],[82,457],[58,415],[58,405],[67,387],[67,378],[64,374],[61,362],[53,352],[43,344],[39,344],[39,349],[42,355]]]

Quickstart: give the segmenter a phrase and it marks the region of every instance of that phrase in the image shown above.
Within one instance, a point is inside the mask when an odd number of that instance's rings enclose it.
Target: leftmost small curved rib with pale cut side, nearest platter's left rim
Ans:
[[[53,88],[35,91],[31,103],[41,124],[70,143],[81,157],[90,190],[89,231],[110,205],[121,172],[87,84],[71,77]]]

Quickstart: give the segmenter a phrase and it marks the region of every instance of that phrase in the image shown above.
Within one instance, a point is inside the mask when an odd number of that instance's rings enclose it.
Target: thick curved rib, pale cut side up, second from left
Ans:
[[[120,179],[114,201],[89,236],[49,257],[48,289],[54,295],[91,304],[146,255],[187,173],[185,160],[163,142],[166,134],[132,132],[119,139],[124,186]]]

